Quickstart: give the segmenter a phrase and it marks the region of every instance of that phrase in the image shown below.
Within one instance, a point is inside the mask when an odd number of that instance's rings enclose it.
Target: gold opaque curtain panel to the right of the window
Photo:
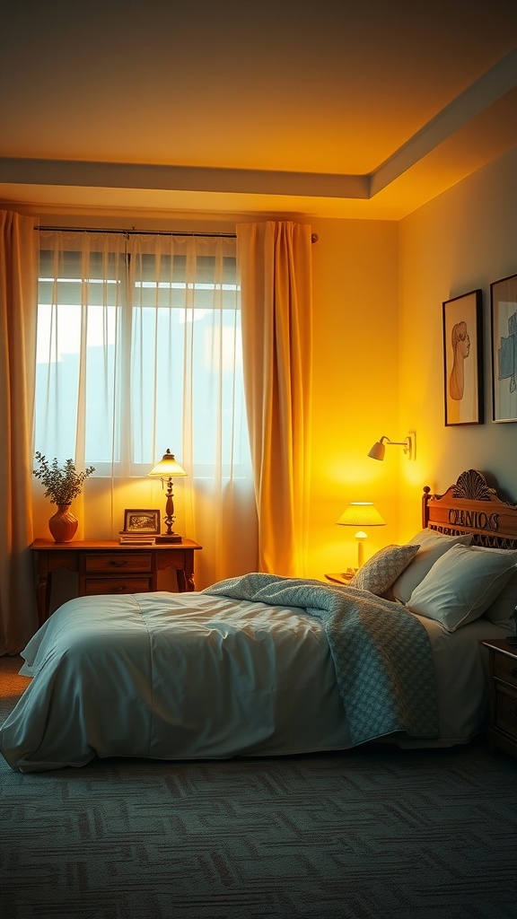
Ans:
[[[310,473],[311,228],[237,225],[260,571],[303,577]]]

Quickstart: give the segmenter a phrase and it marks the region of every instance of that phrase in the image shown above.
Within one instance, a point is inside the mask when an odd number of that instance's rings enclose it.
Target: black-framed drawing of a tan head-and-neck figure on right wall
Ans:
[[[445,425],[483,424],[483,291],[442,303]]]

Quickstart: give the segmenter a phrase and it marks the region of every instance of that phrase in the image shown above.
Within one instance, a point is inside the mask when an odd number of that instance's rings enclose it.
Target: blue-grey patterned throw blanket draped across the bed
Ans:
[[[405,607],[369,591],[276,574],[229,578],[203,593],[300,607],[323,623],[352,743],[395,731],[438,736],[431,644]]]

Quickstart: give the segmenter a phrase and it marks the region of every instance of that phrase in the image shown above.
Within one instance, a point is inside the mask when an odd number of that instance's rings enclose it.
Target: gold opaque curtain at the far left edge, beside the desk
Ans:
[[[32,411],[38,241],[35,221],[0,210],[0,654],[37,629],[32,558]]]

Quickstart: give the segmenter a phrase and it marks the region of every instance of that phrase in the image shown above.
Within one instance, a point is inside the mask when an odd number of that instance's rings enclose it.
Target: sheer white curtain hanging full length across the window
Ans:
[[[256,569],[235,239],[39,235],[35,446],[96,467],[78,536],[117,538],[124,508],[163,512],[146,476],[169,448],[188,473],[175,529],[203,546],[196,586]]]

